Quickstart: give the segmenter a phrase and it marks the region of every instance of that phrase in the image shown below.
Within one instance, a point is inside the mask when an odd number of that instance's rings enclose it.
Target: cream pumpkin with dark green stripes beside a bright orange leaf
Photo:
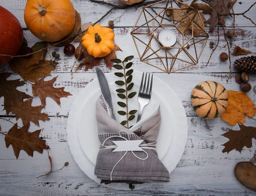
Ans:
[[[228,105],[228,92],[218,82],[201,82],[192,90],[191,103],[195,114],[205,119],[222,116]]]

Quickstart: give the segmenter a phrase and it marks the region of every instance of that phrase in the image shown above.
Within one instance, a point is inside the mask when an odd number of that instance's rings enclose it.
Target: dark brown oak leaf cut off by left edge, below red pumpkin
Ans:
[[[4,110],[6,110],[6,114],[8,115],[11,112],[11,103],[16,99],[29,99],[32,98],[30,95],[18,91],[16,88],[18,86],[22,86],[26,84],[24,81],[17,80],[7,80],[10,76],[10,73],[1,74],[0,77],[0,97],[4,97]]]

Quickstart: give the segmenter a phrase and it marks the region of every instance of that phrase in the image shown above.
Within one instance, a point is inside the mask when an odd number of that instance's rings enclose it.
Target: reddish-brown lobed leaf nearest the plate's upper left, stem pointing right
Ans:
[[[64,87],[54,88],[53,83],[57,80],[57,77],[54,77],[52,80],[44,81],[44,78],[41,78],[37,83],[32,85],[33,96],[38,95],[41,99],[41,104],[46,105],[46,97],[51,97],[58,105],[61,105],[61,97],[67,97],[72,94],[64,91]]]

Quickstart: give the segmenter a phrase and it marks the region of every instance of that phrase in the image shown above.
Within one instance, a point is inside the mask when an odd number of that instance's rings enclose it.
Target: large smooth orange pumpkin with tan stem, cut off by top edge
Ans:
[[[70,0],[28,0],[24,20],[40,40],[55,42],[73,30],[75,9]]]

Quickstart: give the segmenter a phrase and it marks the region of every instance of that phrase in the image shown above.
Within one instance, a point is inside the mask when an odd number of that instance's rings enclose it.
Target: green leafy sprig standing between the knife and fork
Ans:
[[[131,110],[128,111],[128,99],[133,98],[137,92],[128,92],[131,91],[131,89],[134,86],[134,83],[132,81],[132,73],[133,69],[131,68],[131,65],[133,64],[132,62],[128,62],[132,60],[134,56],[128,56],[125,58],[125,60],[121,61],[120,59],[111,59],[112,62],[118,63],[113,65],[114,68],[118,70],[123,70],[122,72],[115,72],[115,75],[117,77],[123,78],[123,80],[117,80],[115,83],[119,86],[125,86],[124,88],[118,88],[116,89],[116,92],[118,92],[117,96],[120,97],[121,99],[125,99],[125,102],[117,102],[117,104],[123,108],[126,107],[126,111],[118,111],[117,113],[120,115],[126,115],[127,119],[121,122],[121,125],[125,126],[127,124],[126,128],[131,128],[129,127],[129,121],[133,120],[135,118],[135,115],[137,110]],[[125,64],[125,62],[128,62]],[[121,65],[119,65],[121,63]]]

